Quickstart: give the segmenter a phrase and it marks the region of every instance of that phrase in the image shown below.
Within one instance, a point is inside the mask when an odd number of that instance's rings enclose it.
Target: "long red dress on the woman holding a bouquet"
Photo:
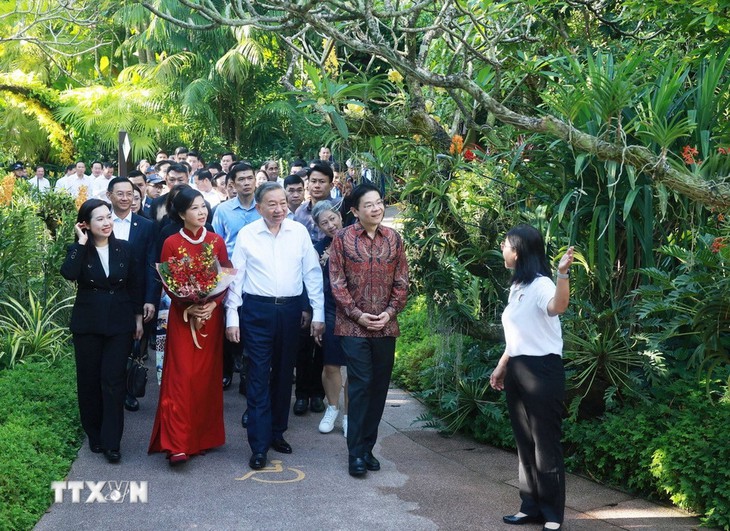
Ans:
[[[192,236],[193,240],[198,237]],[[213,245],[213,254],[223,266],[229,266],[228,252],[223,239],[208,232],[205,243]],[[202,252],[203,244],[193,244],[179,233],[165,240],[161,261],[179,255],[183,247],[188,255]],[[226,436],[223,426],[223,296],[216,298],[218,305],[211,318],[197,331],[196,348],[190,324],[183,319],[189,306],[174,298],[167,325],[165,363],[162,366],[162,384],[152,428],[149,453],[167,452],[195,455],[201,451],[222,446]],[[203,337],[205,334],[207,337]]]

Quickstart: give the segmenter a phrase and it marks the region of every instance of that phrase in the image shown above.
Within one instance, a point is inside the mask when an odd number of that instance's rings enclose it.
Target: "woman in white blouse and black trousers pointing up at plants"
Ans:
[[[568,308],[570,247],[551,279],[542,235],[529,225],[510,230],[502,243],[505,267],[514,271],[502,314],[505,352],[490,378],[507,393],[519,457],[519,512],[506,524],[544,523],[561,529],[565,512],[565,468],[560,442],[565,398],[563,338],[558,316]]]

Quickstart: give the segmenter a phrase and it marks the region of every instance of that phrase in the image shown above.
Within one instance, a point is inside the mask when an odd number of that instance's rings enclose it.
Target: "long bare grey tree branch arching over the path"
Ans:
[[[407,79],[410,78],[421,85],[440,87],[451,91],[464,91],[502,123],[510,124],[523,131],[542,133],[560,139],[576,152],[591,153],[601,160],[630,164],[637,170],[651,175],[656,183],[664,184],[670,189],[705,205],[730,207],[730,186],[724,178],[715,182],[705,181],[684,168],[672,167],[664,158],[652,153],[646,147],[638,145],[624,146],[606,142],[599,137],[579,131],[554,116],[527,116],[517,113],[499,103],[464,72],[444,74],[426,68],[425,58],[430,53],[430,43],[444,42],[436,38],[440,31],[448,34],[454,42],[462,43],[463,51],[461,53],[464,54],[465,58],[473,57],[476,60],[492,63],[494,60],[480,54],[475,43],[466,40],[463,35],[467,32],[464,32],[463,28],[460,32],[458,30],[459,24],[463,25],[467,23],[466,21],[470,21],[469,24],[476,26],[481,35],[494,35],[489,41],[492,46],[495,46],[497,43],[505,41],[514,42],[515,40],[531,38],[529,35],[530,17],[525,17],[524,11],[508,13],[506,18],[508,23],[506,25],[501,25],[499,20],[495,19],[493,21],[487,16],[475,19],[470,15],[467,18],[453,19],[452,27],[450,25],[452,19],[448,18],[446,14],[456,9],[456,6],[458,6],[457,0],[423,0],[406,9],[399,9],[397,4],[393,8],[392,3],[385,3],[385,7],[380,10],[373,8],[373,3],[369,0],[359,0],[358,2],[352,0],[318,2],[314,0],[300,0],[298,2],[290,0],[268,0],[266,2],[244,0],[245,13],[241,10],[243,8],[241,0],[236,0],[236,8],[233,11],[239,18],[223,16],[211,2],[206,1],[205,4],[200,5],[192,0],[180,0],[183,5],[210,21],[209,24],[196,24],[179,20],[169,13],[161,13],[148,1],[139,1],[156,15],[191,30],[208,29],[220,24],[227,26],[251,25],[263,30],[277,31],[284,37],[283,40],[287,46],[302,55],[304,55],[302,47],[297,46],[286,35],[291,34],[291,32],[301,32],[303,28],[306,28],[306,33],[313,32],[319,38],[334,39],[350,50],[378,57],[404,74]],[[579,2],[580,0],[573,1]],[[590,4],[590,2],[586,0],[586,3],[582,4],[588,8],[589,5],[586,4]],[[353,9],[354,6],[357,6],[357,8]],[[391,8],[394,10],[391,10]],[[418,33],[414,30],[419,27],[423,30],[423,24],[419,26],[418,21],[420,19],[418,15],[427,9],[439,13],[437,20],[439,20],[438,24],[441,25],[441,29],[433,27],[427,30],[429,32],[423,35],[419,52],[416,54],[409,53],[409,46],[412,46],[412,43],[409,44],[408,39],[402,41],[400,38],[406,32],[412,36],[417,36]],[[439,19],[438,17],[442,18]],[[487,33],[484,28],[479,28],[477,22],[491,28],[491,33]],[[524,24],[524,27],[521,27],[521,24]],[[428,24],[429,28],[436,25],[436,23]],[[386,39],[381,32],[381,28],[387,28],[389,34],[395,36],[395,42]],[[518,29],[520,29],[520,34],[514,35]],[[301,41],[302,38],[298,40]],[[455,94],[455,92],[452,93]],[[454,101],[461,108],[458,99]],[[414,121],[421,121],[426,130],[430,130],[427,116],[427,114],[426,116],[416,114]],[[468,116],[468,114],[465,113],[465,116]],[[440,139],[439,142],[443,143],[444,140]]]

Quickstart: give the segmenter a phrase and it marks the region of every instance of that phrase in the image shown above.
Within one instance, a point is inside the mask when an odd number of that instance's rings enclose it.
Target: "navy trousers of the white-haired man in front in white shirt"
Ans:
[[[248,444],[266,453],[289,423],[291,386],[302,316],[298,300],[288,304],[243,296],[241,332],[248,353],[246,405]]]

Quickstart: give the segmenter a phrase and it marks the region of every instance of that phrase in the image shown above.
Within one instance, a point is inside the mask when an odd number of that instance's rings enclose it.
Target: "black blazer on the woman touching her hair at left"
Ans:
[[[109,237],[109,277],[93,243],[73,243],[61,275],[78,287],[71,332],[106,336],[134,332],[135,315],[142,315],[144,280],[128,242]]]

